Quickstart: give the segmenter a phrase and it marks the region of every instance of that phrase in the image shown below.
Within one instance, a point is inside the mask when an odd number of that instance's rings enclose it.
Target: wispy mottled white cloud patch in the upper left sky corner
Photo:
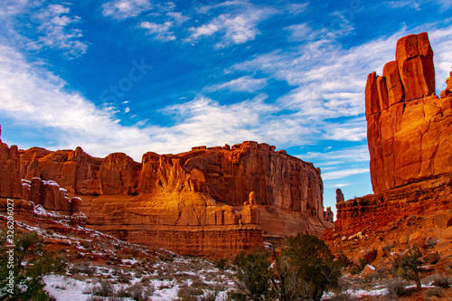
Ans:
[[[83,42],[83,33],[74,24],[80,23],[80,17],[70,15],[70,8],[63,5],[48,5],[33,14],[38,37],[30,40],[28,46],[33,50],[58,49],[68,58],[76,58],[87,52],[89,43]]]

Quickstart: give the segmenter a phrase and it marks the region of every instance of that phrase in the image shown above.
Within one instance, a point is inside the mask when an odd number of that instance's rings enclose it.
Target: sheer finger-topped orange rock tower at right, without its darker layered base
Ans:
[[[396,61],[384,66],[383,76],[369,74],[365,102],[374,193],[452,173],[452,97],[434,93],[427,33],[401,38]]]

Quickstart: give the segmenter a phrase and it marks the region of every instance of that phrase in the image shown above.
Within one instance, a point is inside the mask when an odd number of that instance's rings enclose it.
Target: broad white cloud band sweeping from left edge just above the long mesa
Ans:
[[[179,153],[193,145],[263,141],[261,118],[277,109],[265,104],[264,99],[227,106],[200,97],[161,111],[174,116],[177,122],[173,127],[155,126],[148,120],[125,127],[117,116],[123,111],[96,107],[80,93],[68,92],[66,82],[42,65],[26,61],[12,47],[0,46],[0,114],[33,124],[42,138],[56,140],[59,148],[82,146],[90,155],[124,152],[140,161],[150,150]]]

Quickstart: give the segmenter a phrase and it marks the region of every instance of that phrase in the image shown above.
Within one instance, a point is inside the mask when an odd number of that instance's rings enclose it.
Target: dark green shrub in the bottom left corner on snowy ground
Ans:
[[[7,254],[6,251],[11,249],[5,239],[4,233],[1,233],[1,254]],[[8,256],[0,257],[0,299],[52,300],[43,289],[45,284],[42,277],[51,273],[64,273],[66,263],[44,249],[42,238],[35,231],[17,235],[14,245],[13,262],[8,261]],[[14,271],[11,284],[7,278],[10,270]]]

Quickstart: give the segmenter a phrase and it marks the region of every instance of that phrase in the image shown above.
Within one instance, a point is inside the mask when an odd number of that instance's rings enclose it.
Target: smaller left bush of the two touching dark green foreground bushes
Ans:
[[[265,300],[274,293],[272,286],[273,271],[270,268],[269,253],[265,249],[256,249],[247,254],[241,251],[232,261],[233,267],[237,270],[239,278],[240,294],[250,297],[252,300]]]

